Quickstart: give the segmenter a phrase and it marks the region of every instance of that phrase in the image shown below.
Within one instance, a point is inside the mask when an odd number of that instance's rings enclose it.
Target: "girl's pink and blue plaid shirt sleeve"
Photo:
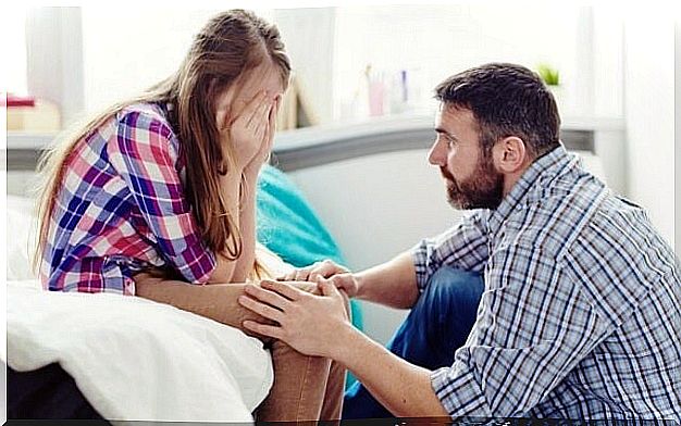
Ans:
[[[198,229],[177,173],[172,129],[151,112],[121,113],[108,143],[109,161],[121,175],[165,260],[189,283],[208,280],[215,255]]]

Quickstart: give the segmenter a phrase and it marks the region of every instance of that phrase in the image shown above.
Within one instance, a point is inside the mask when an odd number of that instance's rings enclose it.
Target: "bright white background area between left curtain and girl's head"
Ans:
[[[85,110],[137,95],[171,75],[215,10],[84,5]]]

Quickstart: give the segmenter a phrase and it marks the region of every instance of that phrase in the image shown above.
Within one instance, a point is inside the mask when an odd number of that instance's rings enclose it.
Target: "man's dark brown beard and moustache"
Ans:
[[[504,175],[494,170],[490,155],[483,154],[473,175],[457,181],[445,167],[439,167],[447,186],[447,201],[455,209],[495,210],[504,199]]]

